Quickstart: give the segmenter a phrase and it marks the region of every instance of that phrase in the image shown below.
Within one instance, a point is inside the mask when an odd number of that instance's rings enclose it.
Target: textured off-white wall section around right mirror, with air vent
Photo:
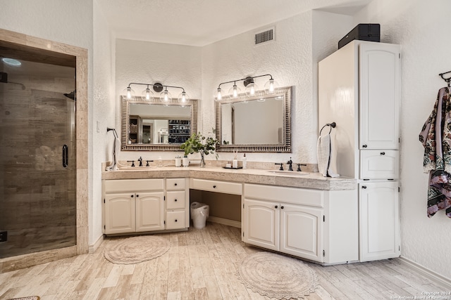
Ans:
[[[254,46],[254,34],[276,27],[276,40]],[[202,126],[215,126],[214,92],[224,81],[271,74],[280,86],[295,86],[293,94],[292,153],[247,153],[247,161],[316,163],[316,100],[312,89],[312,12],[269,24],[202,48]],[[269,77],[256,79],[263,87]],[[228,91],[231,85],[221,86]],[[244,91],[242,81],[237,86]],[[220,159],[233,159],[221,152]]]

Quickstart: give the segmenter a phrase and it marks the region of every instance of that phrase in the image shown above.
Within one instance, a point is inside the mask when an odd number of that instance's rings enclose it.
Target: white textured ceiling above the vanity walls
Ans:
[[[320,9],[353,15],[373,0],[96,0],[118,39],[205,46]]]

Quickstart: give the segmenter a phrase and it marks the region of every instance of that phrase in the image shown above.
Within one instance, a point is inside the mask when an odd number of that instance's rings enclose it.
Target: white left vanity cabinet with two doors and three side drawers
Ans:
[[[187,178],[104,180],[104,233],[190,227]]]

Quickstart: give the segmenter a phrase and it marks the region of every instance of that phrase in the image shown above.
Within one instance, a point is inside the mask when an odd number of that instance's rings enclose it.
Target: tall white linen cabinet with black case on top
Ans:
[[[400,60],[400,45],[354,40],[319,62],[319,129],[337,124],[331,164],[358,182],[359,261],[400,256]]]

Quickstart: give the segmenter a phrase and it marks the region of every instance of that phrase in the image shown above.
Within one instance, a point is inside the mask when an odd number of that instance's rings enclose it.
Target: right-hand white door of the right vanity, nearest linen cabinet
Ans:
[[[323,209],[280,204],[280,252],[322,261]]]

